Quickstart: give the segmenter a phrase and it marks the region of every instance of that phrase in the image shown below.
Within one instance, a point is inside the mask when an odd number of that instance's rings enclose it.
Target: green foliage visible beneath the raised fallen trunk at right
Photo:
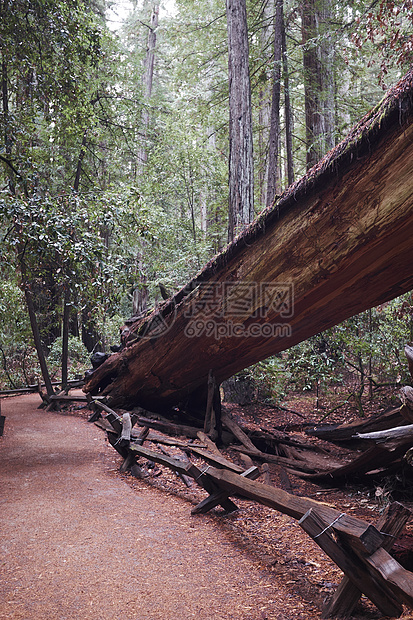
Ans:
[[[411,381],[404,347],[413,340],[413,305],[407,293],[354,316],[253,366],[249,372],[271,400],[312,391],[358,397]]]

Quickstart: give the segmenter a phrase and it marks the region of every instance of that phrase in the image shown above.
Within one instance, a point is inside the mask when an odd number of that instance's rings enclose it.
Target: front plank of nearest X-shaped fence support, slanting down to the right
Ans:
[[[317,509],[308,510],[299,520],[299,524],[385,616],[398,618],[403,613],[403,606],[386,579],[371,575],[354,554],[344,550],[340,543],[334,540],[328,522],[322,519]]]

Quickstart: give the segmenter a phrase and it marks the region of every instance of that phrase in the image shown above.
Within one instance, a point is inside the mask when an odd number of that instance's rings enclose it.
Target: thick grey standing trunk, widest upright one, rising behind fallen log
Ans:
[[[228,241],[254,219],[254,164],[246,0],[227,0],[229,79]]]

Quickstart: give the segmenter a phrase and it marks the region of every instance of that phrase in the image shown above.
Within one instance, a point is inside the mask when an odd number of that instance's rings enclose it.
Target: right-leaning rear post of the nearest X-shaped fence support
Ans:
[[[383,541],[384,549],[390,551],[410,515],[411,511],[399,502],[392,502],[387,506],[376,525],[380,532],[386,534]],[[322,618],[348,618],[360,600],[361,594],[357,585],[345,575],[337,590],[323,607]]]

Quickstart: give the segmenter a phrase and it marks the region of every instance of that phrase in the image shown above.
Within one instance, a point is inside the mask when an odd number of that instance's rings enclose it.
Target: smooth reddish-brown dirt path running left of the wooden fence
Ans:
[[[98,429],[38,405],[2,400],[1,620],[301,617],[183,500],[109,475]]]

